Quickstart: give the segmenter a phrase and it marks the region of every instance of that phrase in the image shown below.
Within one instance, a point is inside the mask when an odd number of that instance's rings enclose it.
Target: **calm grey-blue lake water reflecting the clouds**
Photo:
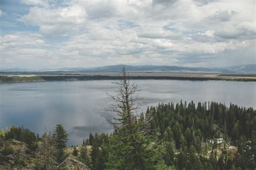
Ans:
[[[148,105],[159,102],[215,101],[256,108],[256,82],[136,80]],[[89,133],[112,132],[115,116],[104,111],[112,102],[109,80],[0,84],[0,128],[24,125],[35,133],[63,124],[68,145],[81,144]],[[146,106],[143,108],[145,110]]]

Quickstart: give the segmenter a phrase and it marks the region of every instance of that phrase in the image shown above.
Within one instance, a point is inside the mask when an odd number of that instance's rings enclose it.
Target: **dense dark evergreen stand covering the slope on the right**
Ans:
[[[192,151],[196,151],[197,159],[200,160],[195,160],[198,168],[255,168],[256,112],[253,108],[234,104],[227,107],[215,102],[199,102],[196,107],[193,102],[180,102],[176,107],[173,103],[158,104],[157,107],[147,109],[149,112],[154,115],[150,122],[151,129],[157,129],[160,139],[173,141],[179,153],[174,163],[177,168],[195,166],[190,156],[187,156]],[[223,148],[217,148],[218,139],[223,140]],[[228,146],[237,146],[237,153],[234,152],[237,156],[227,153]],[[217,154],[217,151],[221,151],[221,154]]]

